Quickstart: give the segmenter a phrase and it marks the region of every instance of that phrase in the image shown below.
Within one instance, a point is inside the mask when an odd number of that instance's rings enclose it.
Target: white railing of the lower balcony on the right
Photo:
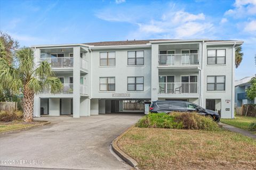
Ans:
[[[159,83],[158,94],[197,94],[197,82]]]

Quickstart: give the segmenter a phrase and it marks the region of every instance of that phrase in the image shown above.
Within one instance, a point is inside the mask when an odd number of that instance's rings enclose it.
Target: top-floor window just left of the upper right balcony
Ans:
[[[144,51],[128,52],[128,65],[144,65]]]

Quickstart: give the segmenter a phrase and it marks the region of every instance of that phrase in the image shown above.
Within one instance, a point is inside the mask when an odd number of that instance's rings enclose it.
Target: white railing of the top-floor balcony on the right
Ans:
[[[198,54],[159,54],[159,66],[197,65]]]

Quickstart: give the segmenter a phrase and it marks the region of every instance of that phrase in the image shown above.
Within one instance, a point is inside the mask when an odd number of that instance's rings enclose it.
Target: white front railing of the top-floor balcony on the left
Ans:
[[[40,58],[40,62],[47,61],[52,68],[69,68],[74,65],[73,57]]]

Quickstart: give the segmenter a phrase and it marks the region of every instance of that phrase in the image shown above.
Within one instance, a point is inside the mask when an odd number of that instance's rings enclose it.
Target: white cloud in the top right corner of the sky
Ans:
[[[230,15],[234,18],[243,18],[256,14],[256,0],[236,0],[234,6],[235,8],[226,11],[225,15]]]

